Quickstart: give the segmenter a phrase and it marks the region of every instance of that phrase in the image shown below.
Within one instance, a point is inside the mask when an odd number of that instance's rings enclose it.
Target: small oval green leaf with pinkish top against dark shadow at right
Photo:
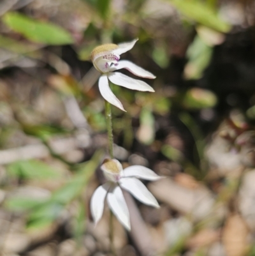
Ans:
[[[189,89],[182,100],[182,105],[187,109],[206,109],[214,107],[216,103],[217,96],[212,91],[198,87]]]

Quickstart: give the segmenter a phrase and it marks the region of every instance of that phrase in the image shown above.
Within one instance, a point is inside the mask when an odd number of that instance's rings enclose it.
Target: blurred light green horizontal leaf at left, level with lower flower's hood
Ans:
[[[59,172],[39,160],[21,160],[11,163],[7,170],[12,176],[23,179],[56,179],[60,177]]]

